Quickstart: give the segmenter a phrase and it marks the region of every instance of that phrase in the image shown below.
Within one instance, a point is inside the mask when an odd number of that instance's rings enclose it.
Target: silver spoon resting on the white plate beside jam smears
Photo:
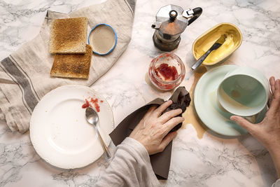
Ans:
[[[97,132],[97,135],[100,139],[100,142],[102,144],[102,148],[105,152],[106,158],[110,159],[111,158],[111,153],[108,151],[108,148],[106,147],[106,144],[104,143],[99,130],[97,128],[97,123],[99,120],[98,114],[96,111],[94,111],[94,109],[92,109],[92,107],[87,107],[87,109],[85,109],[85,117],[87,118],[87,122],[94,125],[95,130]]]

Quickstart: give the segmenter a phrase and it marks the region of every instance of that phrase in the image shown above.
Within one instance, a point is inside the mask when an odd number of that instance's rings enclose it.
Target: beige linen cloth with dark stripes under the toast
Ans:
[[[123,54],[131,39],[136,0],[108,0],[70,14],[48,11],[40,33],[0,62],[0,120],[10,130],[26,132],[34,107],[50,90],[61,85],[90,86]],[[88,80],[52,78],[54,55],[49,53],[50,23],[58,18],[87,17],[87,34],[94,25],[111,25],[118,36],[116,48],[106,56],[93,55]]]

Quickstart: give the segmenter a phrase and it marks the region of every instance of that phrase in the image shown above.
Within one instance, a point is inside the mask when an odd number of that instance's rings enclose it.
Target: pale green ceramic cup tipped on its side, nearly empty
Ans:
[[[225,110],[255,122],[254,116],[267,109],[269,82],[257,69],[239,67],[225,75],[217,94]]]

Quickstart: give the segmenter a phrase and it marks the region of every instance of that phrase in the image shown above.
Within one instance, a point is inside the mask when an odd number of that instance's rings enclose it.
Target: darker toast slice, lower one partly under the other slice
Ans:
[[[85,54],[56,54],[50,76],[61,78],[83,78],[90,75],[92,47],[86,46]]]

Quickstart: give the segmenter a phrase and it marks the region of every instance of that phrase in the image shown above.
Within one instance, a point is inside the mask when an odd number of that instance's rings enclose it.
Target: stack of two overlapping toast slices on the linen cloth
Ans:
[[[50,76],[84,78],[90,75],[92,48],[86,44],[87,18],[54,20],[50,30],[50,53],[55,54]]]

